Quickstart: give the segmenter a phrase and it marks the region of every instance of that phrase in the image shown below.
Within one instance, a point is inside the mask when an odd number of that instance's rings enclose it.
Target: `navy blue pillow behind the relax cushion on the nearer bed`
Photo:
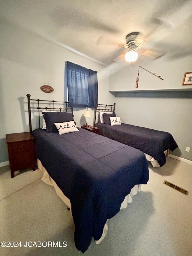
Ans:
[[[58,130],[54,123],[63,123],[74,121],[73,114],[67,112],[46,112],[44,113],[44,119],[46,123],[47,132],[57,132]],[[75,122],[76,125],[76,122]]]

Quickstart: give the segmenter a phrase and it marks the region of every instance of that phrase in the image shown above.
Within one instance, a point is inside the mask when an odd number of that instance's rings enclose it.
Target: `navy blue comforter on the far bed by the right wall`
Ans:
[[[122,125],[106,125],[98,122],[95,126],[100,128],[100,135],[141,150],[154,157],[160,166],[166,163],[164,151],[167,149],[173,151],[178,147],[173,136],[165,131],[123,123]]]

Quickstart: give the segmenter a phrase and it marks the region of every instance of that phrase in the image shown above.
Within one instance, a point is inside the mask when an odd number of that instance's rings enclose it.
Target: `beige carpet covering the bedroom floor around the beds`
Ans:
[[[192,255],[192,165],[169,158],[149,171],[148,184],[109,220],[101,244],[92,240],[84,255]],[[11,179],[9,166],[0,168],[0,242],[22,245],[0,247],[0,255],[83,255],[74,244],[70,212],[41,176],[40,170],[26,170]],[[165,179],[189,194],[163,184]],[[24,247],[26,241],[66,241],[67,247]]]

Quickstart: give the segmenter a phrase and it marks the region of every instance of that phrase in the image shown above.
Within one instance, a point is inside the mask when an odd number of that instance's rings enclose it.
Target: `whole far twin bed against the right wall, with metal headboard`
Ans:
[[[141,150],[145,153],[147,160],[151,161],[153,167],[163,166],[166,163],[169,149],[173,151],[178,147],[173,136],[168,132],[124,123],[121,123],[121,125],[110,125],[107,116],[112,115],[109,113],[115,113],[115,104],[97,104],[94,125],[100,128],[100,135]],[[98,122],[96,123],[97,116]]]

